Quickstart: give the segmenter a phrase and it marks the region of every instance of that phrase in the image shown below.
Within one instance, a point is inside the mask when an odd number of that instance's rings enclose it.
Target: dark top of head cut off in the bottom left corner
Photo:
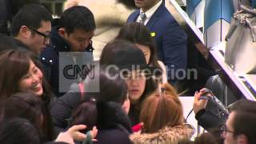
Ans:
[[[24,118],[12,118],[0,127],[0,143],[41,144],[38,130]]]

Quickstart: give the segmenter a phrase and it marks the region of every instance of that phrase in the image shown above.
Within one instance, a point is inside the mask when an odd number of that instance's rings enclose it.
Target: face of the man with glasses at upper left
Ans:
[[[41,27],[37,30],[28,28],[31,31],[30,38],[27,39],[26,45],[30,47],[30,50],[34,51],[35,54],[41,54],[42,50],[50,44],[50,31],[51,22],[42,21]]]

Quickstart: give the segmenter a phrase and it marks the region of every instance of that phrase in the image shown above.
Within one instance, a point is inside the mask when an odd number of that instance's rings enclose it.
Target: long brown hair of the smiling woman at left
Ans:
[[[33,61],[43,72],[40,62],[32,52],[6,50],[0,54],[0,102],[4,102],[11,94],[19,92],[18,83],[30,69],[30,61]],[[42,78],[42,88],[44,90],[42,99],[45,105],[48,106],[51,92],[46,78]]]

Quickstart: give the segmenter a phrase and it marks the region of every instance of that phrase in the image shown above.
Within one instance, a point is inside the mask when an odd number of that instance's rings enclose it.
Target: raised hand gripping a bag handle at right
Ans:
[[[199,98],[202,96],[202,94],[205,93],[205,89],[201,89],[199,92],[196,91],[194,93],[194,104],[193,104],[193,110],[194,114],[197,114],[199,110],[205,109],[208,100],[206,99],[200,99]]]

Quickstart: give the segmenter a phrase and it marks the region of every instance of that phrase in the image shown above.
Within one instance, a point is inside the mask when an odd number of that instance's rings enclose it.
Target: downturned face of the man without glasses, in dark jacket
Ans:
[[[72,33],[64,34],[63,37],[70,44],[71,51],[85,51],[93,36],[94,30],[86,32],[85,30],[74,29]]]

